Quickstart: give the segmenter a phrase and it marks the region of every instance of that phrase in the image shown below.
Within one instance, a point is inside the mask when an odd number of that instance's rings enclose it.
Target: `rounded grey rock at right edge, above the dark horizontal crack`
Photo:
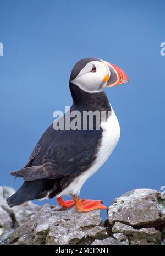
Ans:
[[[135,189],[117,198],[109,207],[110,225],[123,222],[133,227],[157,227],[164,225],[165,200],[152,189]]]

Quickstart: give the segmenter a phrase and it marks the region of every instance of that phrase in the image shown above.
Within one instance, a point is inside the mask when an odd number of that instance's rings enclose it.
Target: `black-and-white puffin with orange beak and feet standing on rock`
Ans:
[[[65,113],[63,116],[64,129],[60,126],[54,129],[54,123],[51,124],[36,144],[26,165],[10,173],[15,178],[23,178],[24,183],[7,198],[8,206],[56,197],[60,206],[75,206],[80,213],[107,210],[101,200],[81,199],[80,190],[112,154],[120,137],[119,122],[104,89],[128,81],[123,69],[100,58],[84,58],[75,64],[69,79],[73,105],[69,115]],[[76,122],[80,125],[76,127],[75,122],[75,126],[71,126],[73,114],[77,112],[80,115],[77,115]],[[93,115],[93,119],[85,118],[84,112],[97,113],[100,117]],[[100,121],[98,124],[96,119]],[[61,118],[58,118],[56,126],[60,122]],[[63,195],[70,195],[73,200],[64,200]]]

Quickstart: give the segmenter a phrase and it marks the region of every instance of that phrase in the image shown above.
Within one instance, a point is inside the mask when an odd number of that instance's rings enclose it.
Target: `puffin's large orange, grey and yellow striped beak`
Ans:
[[[106,65],[108,72],[103,79],[103,81],[107,82],[106,87],[113,87],[118,84],[125,84],[129,82],[129,78],[123,69],[107,61],[103,61],[103,63]]]

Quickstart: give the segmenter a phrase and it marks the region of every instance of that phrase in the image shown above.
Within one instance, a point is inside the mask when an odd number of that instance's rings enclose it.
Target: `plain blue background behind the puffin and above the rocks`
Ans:
[[[121,137],[81,197],[110,205],[131,189],[160,189],[165,184],[165,56],[160,55],[165,2],[1,0],[0,9],[1,184],[20,186],[22,180],[8,173],[25,165],[53,122],[53,111],[72,105],[73,65],[98,57],[123,68],[130,83],[106,89]]]

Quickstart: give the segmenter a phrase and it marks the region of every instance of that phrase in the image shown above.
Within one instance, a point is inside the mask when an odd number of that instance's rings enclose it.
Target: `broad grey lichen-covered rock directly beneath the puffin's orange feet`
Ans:
[[[90,244],[107,237],[100,210],[78,213],[46,204],[30,221],[17,228],[17,244]],[[11,241],[12,243],[12,241]]]

